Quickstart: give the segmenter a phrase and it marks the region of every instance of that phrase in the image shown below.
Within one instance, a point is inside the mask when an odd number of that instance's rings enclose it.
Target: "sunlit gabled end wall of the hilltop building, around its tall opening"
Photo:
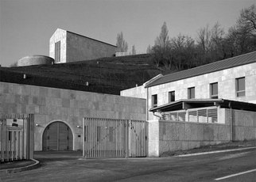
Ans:
[[[55,43],[60,41],[60,62],[66,63],[67,60],[67,31],[60,28],[56,29],[49,41],[49,56],[55,59]]]

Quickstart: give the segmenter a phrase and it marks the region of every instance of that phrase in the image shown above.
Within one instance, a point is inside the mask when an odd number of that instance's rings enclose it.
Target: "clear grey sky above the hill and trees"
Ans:
[[[123,32],[129,49],[145,53],[164,21],[169,36],[196,37],[200,28],[219,22],[225,31],[240,10],[256,0],[0,0],[0,63],[26,55],[48,55],[56,28],[116,44]]]

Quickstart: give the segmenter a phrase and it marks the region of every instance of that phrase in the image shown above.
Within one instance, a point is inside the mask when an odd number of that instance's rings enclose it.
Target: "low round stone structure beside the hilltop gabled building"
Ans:
[[[54,59],[46,55],[29,55],[17,61],[17,66],[31,66],[41,64],[52,64]]]

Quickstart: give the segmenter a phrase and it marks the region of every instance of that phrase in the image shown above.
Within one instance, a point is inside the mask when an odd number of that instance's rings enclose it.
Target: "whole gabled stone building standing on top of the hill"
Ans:
[[[57,28],[49,40],[49,56],[55,63],[69,63],[115,55],[116,46]]]

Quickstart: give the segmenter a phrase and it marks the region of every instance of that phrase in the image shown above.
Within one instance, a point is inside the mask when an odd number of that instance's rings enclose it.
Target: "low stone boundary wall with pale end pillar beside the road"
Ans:
[[[231,114],[230,109],[220,110],[220,123],[149,121],[149,157],[158,157],[167,151],[188,150],[231,140],[256,139],[256,112],[232,110]]]

